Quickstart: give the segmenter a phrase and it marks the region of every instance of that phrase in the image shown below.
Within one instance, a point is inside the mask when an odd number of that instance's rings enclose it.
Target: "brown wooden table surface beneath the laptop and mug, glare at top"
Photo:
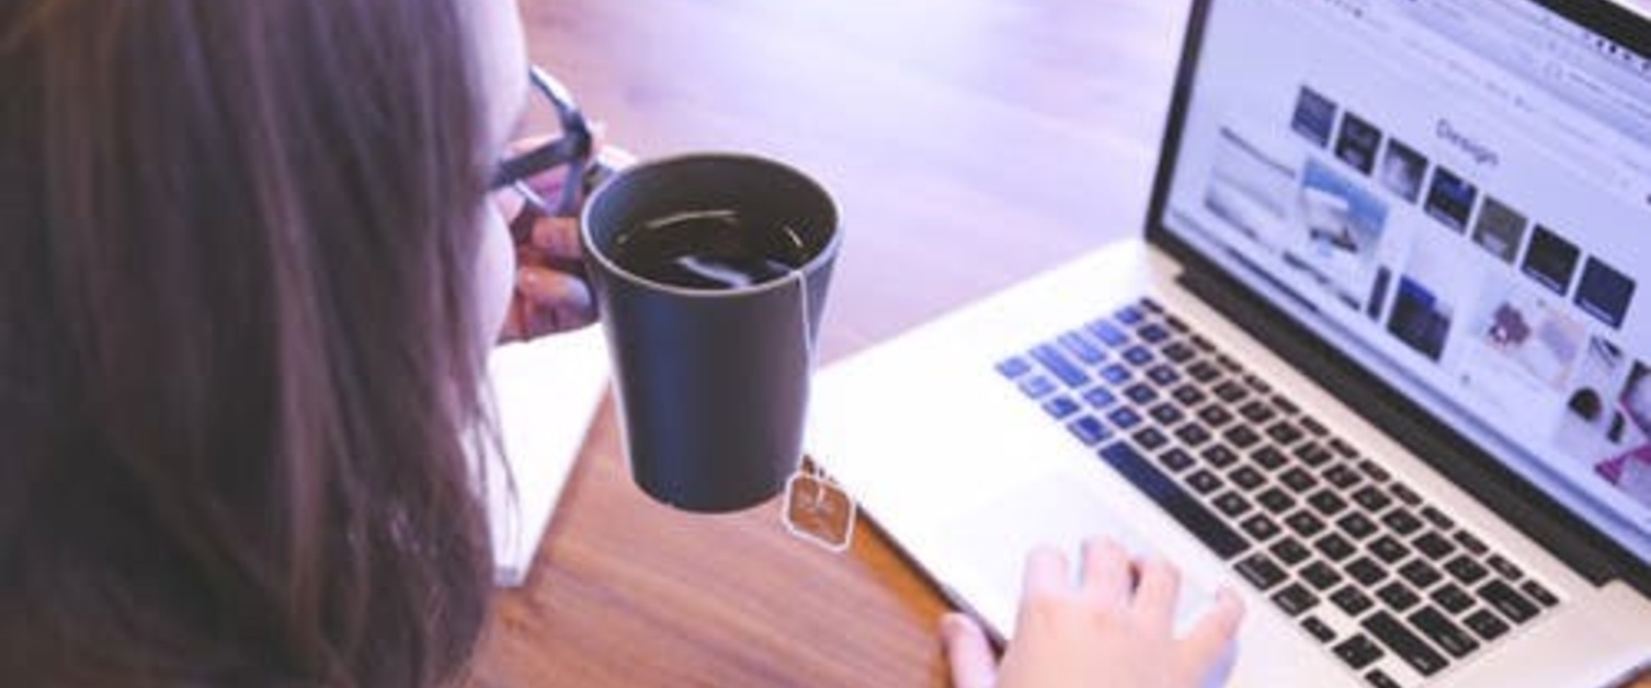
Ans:
[[[523,0],[533,58],[642,157],[725,148],[821,178],[845,247],[829,363],[1128,236],[1185,5]],[[939,594],[873,528],[845,554],[768,505],[692,516],[629,480],[613,404],[475,686],[941,686]]]

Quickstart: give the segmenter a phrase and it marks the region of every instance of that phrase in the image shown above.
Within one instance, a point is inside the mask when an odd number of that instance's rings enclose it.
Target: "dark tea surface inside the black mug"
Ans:
[[[756,226],[735,210],[698,210],[647,219],[614,239],[626,271],[684,289],[741,289],[802,267],[809,247],[788,224]]]

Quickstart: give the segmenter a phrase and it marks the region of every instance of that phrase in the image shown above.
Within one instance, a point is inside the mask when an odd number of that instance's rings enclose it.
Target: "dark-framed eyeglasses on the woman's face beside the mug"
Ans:
[[[591,129],[584,122],[584,114],[573,102],[573,94],[561,86],[548,71],[530,66],[528,79],[533,84],[535,99],[546,101],[556,112],[560,135],[533,147],[523,153],[512,155],[499,163],[494,172],[490,190],[505,186],[515,188],[535,211],[553,216],[575,214],[580,206],[580,191],[584,186],[586,167],[591,160]],[[561,185],[561,198],[548,200],[535,191],[527,181],[540,173],[566,168],[566,183]]]

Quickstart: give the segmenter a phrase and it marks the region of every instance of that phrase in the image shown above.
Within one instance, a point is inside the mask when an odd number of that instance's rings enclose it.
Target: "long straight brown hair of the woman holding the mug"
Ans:
[[[485,190],[456,0],[0,0],[0,683],[452,680]]]

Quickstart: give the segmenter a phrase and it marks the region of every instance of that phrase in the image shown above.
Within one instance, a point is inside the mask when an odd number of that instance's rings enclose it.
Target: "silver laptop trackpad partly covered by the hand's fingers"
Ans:
[[[1027,554],[1050,544],[1067,553],[1073,581],[1080,576],[1081,544],[1106,536],[1134,556],[1157,549],[1128,525],[1105,498],[1081,482],[1047,478],[1010,492],[992,507],[961,518],[949,533],[951,551],[966,571],[946,581],[959,602],[974,609],[1001,639],[1014,635]],[[1213,587],[1185,576],[1182,566],[1176,629],[1184,632],[1212,601]],[[941,571],[941,579],[946,579]]]

